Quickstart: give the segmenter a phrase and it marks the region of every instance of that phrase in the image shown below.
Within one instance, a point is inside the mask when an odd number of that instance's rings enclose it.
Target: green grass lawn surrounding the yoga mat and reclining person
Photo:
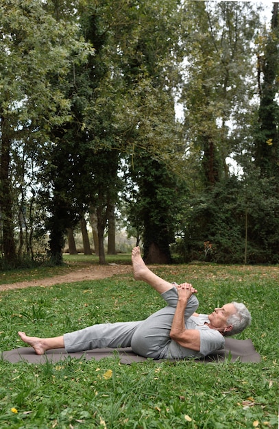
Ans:
[[[262,362],[1,361],[1,428],[278,428],[279,267],[191,264],[154,271],[195,284],[201,312],[232,299],[245,302],[252,326],[236,338],[251,338]],[[93,323],[144,319],[162,306],[156,292],[131,275],[5,291],[1,350],[23,346],[18,330],[55,336]]]

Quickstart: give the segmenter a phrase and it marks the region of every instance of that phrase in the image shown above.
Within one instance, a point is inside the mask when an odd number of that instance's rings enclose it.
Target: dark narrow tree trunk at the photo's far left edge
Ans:
[[[11,265],[16,262],[16,245],[14,243],[14,226],[12,221],[12,185],[10,170],[10,125],[1,115],[1,164],[0,164],[0,207],[3,228],[3,254]]]

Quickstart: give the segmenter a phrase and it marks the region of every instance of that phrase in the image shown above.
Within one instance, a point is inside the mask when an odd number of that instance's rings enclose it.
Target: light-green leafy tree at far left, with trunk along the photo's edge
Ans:
[[[0,204],[5,219],[2,226],[5,258],[14,263],[12,144],[23,141],[27,151],[32,151],[36,141],[38,158],[40,145],[44,147],[48,141],[51,126],[64,121],[69,103],[57,87],[50,86],[49,75],[56,74],[62,79],[69,66],[68,43],[73,42],[76,47],[78,39],[76,29],[57,23],[46,14],[41,2],[4,0],[0,5],[0,22]]]

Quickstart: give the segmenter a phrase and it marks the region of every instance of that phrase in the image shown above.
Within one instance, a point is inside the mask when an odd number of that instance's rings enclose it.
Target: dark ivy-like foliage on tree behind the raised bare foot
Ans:
[[[169,244],[174,241],[180,193],[186,193],[186,184],[165,164],[141,153],[135,156],[130,175],[133,182],[129,193],[128,221],[134,228],[143,225],[145,259],[150,263],[170,262]],[[149,254],[152,245],[160,249],[161,259],[152,260]]]

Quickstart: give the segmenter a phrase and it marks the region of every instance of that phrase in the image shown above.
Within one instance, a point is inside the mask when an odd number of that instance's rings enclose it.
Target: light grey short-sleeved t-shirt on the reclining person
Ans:
[[[203,358],[210,353],[217,352],[225,345],[225,339],[219,331],[207,326],[209,323],[208,315],[191,316],[186,320],[186,329],[197,329],[200,334],[200,349],[195,350],[182,347],[182,345],[171,341],[168,347],[169,358]]]

